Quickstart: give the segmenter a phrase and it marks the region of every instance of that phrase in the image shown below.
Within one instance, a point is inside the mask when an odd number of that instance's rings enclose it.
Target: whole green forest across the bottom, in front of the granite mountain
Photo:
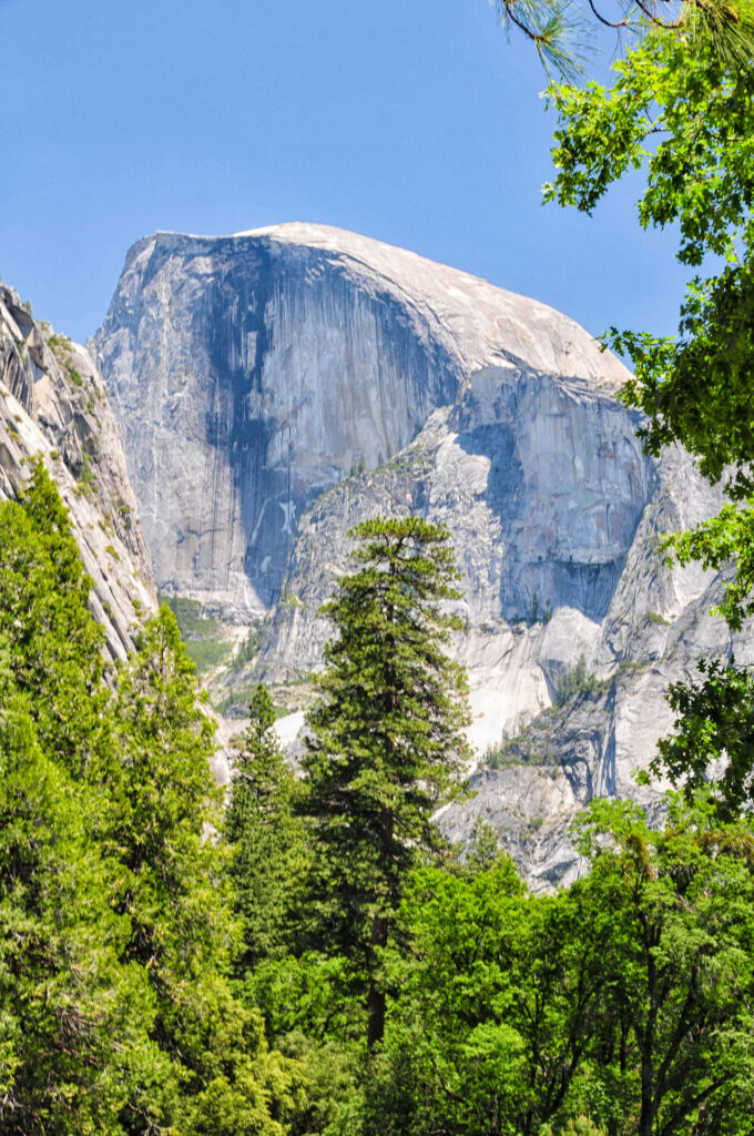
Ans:
[[[447,845],[452,551],[354,535],[302,776],[260,685],[223,815],[170,610],[106,668],[41,463],[0,507],[2,1130],[749,1131],[751,817],[596,801],[546,896]]]

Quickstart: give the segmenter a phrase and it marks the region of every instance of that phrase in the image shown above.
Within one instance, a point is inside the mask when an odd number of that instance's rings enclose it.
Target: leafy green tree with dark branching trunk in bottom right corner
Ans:
[[[592,860],[583,888],[611,921],[598,1036],[605,1053],[625,1053],[605,1068],[609,1094],[594,1118],[610,1130],[615,1114],[632,1114],[639,1134],[743,1131],[752,1109],[751,824],[719,825],[704,802],[671,801],[667,828],[653,832],[635,805],[601,801],[579,827]]]

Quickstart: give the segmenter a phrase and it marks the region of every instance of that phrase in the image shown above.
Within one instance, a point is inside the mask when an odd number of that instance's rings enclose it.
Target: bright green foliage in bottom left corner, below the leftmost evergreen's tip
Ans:
[[[37,743],[0,652],[0,1127],[120,1133],[159,1069],[146,975],[124,966],[87,794]]]

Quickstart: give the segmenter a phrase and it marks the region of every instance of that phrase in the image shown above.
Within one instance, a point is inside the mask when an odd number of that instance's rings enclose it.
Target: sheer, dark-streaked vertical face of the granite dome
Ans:
[[[243,617],[279,594],[298,519],[454,400],[458,359],[328,249],[158,234],[95,346],[158,586]]]

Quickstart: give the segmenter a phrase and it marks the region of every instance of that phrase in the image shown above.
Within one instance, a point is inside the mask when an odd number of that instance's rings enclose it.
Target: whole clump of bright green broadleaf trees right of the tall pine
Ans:
[[[710,817],[675,802],[652,832],[597,802],[590,875],[554,896],[526,895],[504,858],[414,872],[360,1130],[743,1136],[754,832]]]

